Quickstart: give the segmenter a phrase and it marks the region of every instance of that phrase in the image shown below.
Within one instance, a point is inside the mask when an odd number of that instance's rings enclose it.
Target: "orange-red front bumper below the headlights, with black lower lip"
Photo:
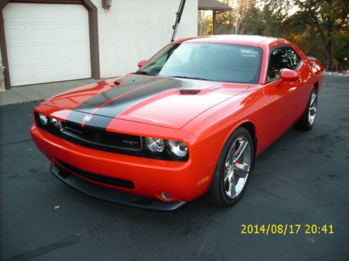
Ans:
[[[181,207],[184,202],[200,197],[207,191],[215,167],[213,164],[205,165],[205,162],[200,161],[200,154],[197,161],[192,156],[188,161],[177,162],[89,149],[47,133],[36,124],[31,128],[31,135],[37,147],[54,164],[52,167],[54,175],[62,181],[88,195],[146,209],[173,210]],[[193,149],[191,155],[195,154]],[[121,188],[88,177],[80,177],[79,174],[68,171],[62,166],[59,163],[61,161],[84,172],[100,174],[110,179],[132,181],[134,188]],[[68,172],[69,178],[63,179],[59,175],[59,170]],[[92,188],[96,191],[92,192]],[[164,200],[161,197],[162,192],[170,195],[172,200]],[[120,196],[120,193],[127,195]],[[137,203],[135,195],[163,202],[160,204],[153,200],[154,202],[148,207],[144,207]],[[169,205],[164,207],[163,204]]]

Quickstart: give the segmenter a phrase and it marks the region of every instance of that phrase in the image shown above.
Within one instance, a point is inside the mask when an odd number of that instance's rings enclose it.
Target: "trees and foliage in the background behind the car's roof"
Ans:
[[[216,16],[217,34],[237,32],[285,38],[306,55],[320,59],[328,70],[348,70],[348,0],[260,0],[258,7],[256,0],[222,1],[233,10]],[[242,16],[240,5],[247,8]],[[240,20],[243,18],[239,30],[235,30],[239,15]]]

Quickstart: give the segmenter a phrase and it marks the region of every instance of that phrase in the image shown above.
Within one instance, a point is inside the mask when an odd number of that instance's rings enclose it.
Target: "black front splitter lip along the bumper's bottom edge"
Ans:
[[[138,207],[141,209],[149,209],[156,211],[173,211],[183,207],[187,202],[163,202],[161,200],[150,197],[140,197],[137,195],[129,195],[120,193],[112,188],[98,186],[85,179],[77,177],[77,175],[64,170],[59,166],[51,164],[50,170],[54,176],[63,181],[65,184],[77,189],[86,195],[96,197],[101,200],[122,204],[129,207]]]

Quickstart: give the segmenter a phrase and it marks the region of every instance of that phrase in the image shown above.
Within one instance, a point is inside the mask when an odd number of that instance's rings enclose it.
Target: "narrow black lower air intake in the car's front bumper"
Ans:
[[[96,181],[101,184],[106,184],[110,186],[117,186],[120,188],[135,188],[135,185],[132,181],[125,180],[125,179],[117,179],[112,177],[107,177],[101,174],[96,174],[92,172],[87,172],[85,170],[81,170],[77,167],[74,167],[73,165],[70,165],[68,163],[65,163],[64,161],[61,161],[59,159],[56,159],[59,165],[64,167],[69,172],[73,172],[81,177],[84,177],[85,179],[89,179],[91,181]]]

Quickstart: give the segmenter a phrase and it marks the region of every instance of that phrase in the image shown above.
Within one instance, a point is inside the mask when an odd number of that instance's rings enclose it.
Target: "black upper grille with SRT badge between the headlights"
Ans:
[[[128,149],[131,151],[142,150],[142,138],[135,135],[127,135],[123,133],[111,133],[105,130],[80,126],[69,122],[61,123],[61,132],[65,135],[89,142],[103,147],[116,149]]]

